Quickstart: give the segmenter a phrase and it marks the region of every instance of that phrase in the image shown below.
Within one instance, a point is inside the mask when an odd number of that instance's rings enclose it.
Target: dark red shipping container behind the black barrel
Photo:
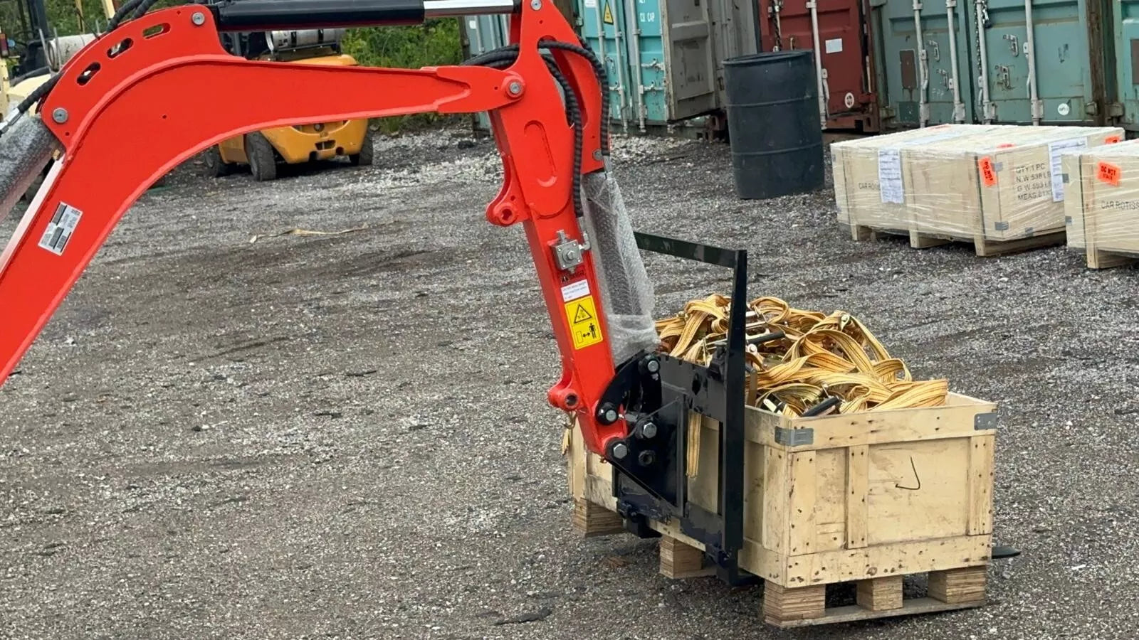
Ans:
[[[764,51],[814,49],[822,63],[822,95],[827,97],[827,129],[878,131],[865,0],[757,0],[760,39]]]

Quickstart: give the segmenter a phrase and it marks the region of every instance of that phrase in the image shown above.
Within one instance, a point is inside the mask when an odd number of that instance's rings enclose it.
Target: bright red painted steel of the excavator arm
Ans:
[[[511,19],[521,55],[508,69],[443,66],[423,69],[320,67],[252,61],[226,54],[208,10],[185,6],[131,20],[77,54],[41,113],[66,109],[47,124],[64,157],[52,169],[34,215],[24,218],[0,255],[0,383],[49,320],[130,205],[159,177],[232,136],[273,126],[423,112],[490,112],[505,169],[490,222],[521,223],[562,353],[563,376],[552,405],[576,416],[588,446],[624,436],[623,420],[600,425],[596,405],[614,375],[605,312],[591,252],[573,272],[551,252],[558,232],[582,240],[571,198],[573,129],[558,88],[539,55],[539,40],[576,43],[552,2],[524,3]],[[198,22],[191,16],[199,14]],[[202,17],[205,19],[203,20]],[[162,25],[162,30],[155,27]],[[157,35],[147,33],[158,31]],[[122,54],[112,48],[130,39]],[[555,52],[579,97],[583,120],[582,173],[601,169],[601,93],[589,61]],[[90,71],[95,71],[90,74]],[[88,75],[84,76],[84,72]],[[511,95],[511,84],[521,88]],[[305,87],[305,91],[295,91]],[[233,101],[232,96],[243,96]],[[227,105],[227,108],[216,108]],[[63,210],[62,207],[72,207]],[[43,246],[60,211],[77,213],[62,249]],[[54,220],[56,219],[56,220]],[[50,227],[56,229],[57,227]],[[48,235],[50,237],[50,233]],[[50,245],[50,243],[49,243]],[[603,339],[575,344],[563,287],[588,282]],[[591,326],[590,331],[595,328]]]

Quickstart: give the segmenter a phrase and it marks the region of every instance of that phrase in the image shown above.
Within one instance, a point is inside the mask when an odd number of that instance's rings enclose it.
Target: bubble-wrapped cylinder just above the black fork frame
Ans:
[[[601,287],[613,360],[620,364],[659,342],[653,319],[653,284],[613,172],[582,177],[585,230]]]

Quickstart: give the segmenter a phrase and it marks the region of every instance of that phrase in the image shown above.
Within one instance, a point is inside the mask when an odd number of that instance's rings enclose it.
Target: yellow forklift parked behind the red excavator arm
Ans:
[[[227,33],[222,46],[247,59],[303,65],[355,66],[341,51],[343,28]],[[353,165],[370,165],[368,120],[343,120],[302,126],[279,126],[222,140],[205,153],[205,173],[219,178],[248,166],[254,180],[277,178],[278,164],[303,164],[346,157]]]

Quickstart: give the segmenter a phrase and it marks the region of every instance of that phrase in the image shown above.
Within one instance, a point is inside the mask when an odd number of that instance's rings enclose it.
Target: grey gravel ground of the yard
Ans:
[[[483,218],[498,159],[442,131],[272,183],[179,171],[128,214],[0,388],[0,638],[1139,634],[1139,273],[854,243],[829,188],[740,202],[723,145],[616,145],[636,227],[746,247],[753,296],[850,311],[1000,403],[995,527],[1024,555],[992,605],[778,633],[757,589],[577,540],[539,288]],[[647,264],[659,314],[728,290]]]

